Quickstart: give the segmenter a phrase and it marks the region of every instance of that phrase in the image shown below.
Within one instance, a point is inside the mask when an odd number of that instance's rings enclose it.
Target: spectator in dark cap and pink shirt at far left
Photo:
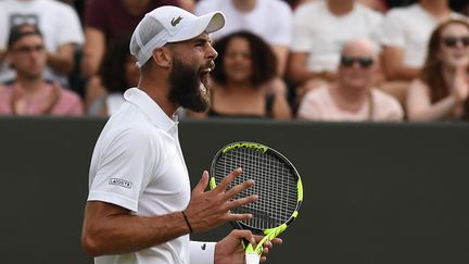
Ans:
[[[16,78],[0,88],[0,114],[83,114],[78,95],[46,81],[43,70],[48,55],[42,34],[36,26],[25,24],[11,29],[7,58],[16,70]]]

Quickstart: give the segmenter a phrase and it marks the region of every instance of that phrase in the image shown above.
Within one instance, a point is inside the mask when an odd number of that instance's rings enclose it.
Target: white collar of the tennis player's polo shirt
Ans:
[[[176,115],[174,115],[173,118],[169,118],[160,105],[147,95],[147,92],[138,88],[126,90],[124,92],[124,99],[129,103],[137,105],[156,127],[169,131],[178,124]]]

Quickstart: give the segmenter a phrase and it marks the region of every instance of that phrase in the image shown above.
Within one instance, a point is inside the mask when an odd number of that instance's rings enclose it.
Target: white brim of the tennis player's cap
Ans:
[[[168,42],[179,42],[195,38],[204,32],[213,33],[225,26],[225,15],[221,12],[212,12],[197,17]]]

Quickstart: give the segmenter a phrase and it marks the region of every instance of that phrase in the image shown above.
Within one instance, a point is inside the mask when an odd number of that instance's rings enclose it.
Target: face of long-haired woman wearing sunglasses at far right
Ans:
[[[449,24],[441,32],[439,59],[447,67],[469,65],[469,28],[462,24]]]

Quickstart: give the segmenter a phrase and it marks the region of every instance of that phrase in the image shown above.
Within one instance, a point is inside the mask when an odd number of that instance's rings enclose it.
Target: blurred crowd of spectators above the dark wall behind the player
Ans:
[[[145,13],[221,11],[212,106],[186,118],[469,120],[467,0],[0,0],[0,115],[110,116]]]

